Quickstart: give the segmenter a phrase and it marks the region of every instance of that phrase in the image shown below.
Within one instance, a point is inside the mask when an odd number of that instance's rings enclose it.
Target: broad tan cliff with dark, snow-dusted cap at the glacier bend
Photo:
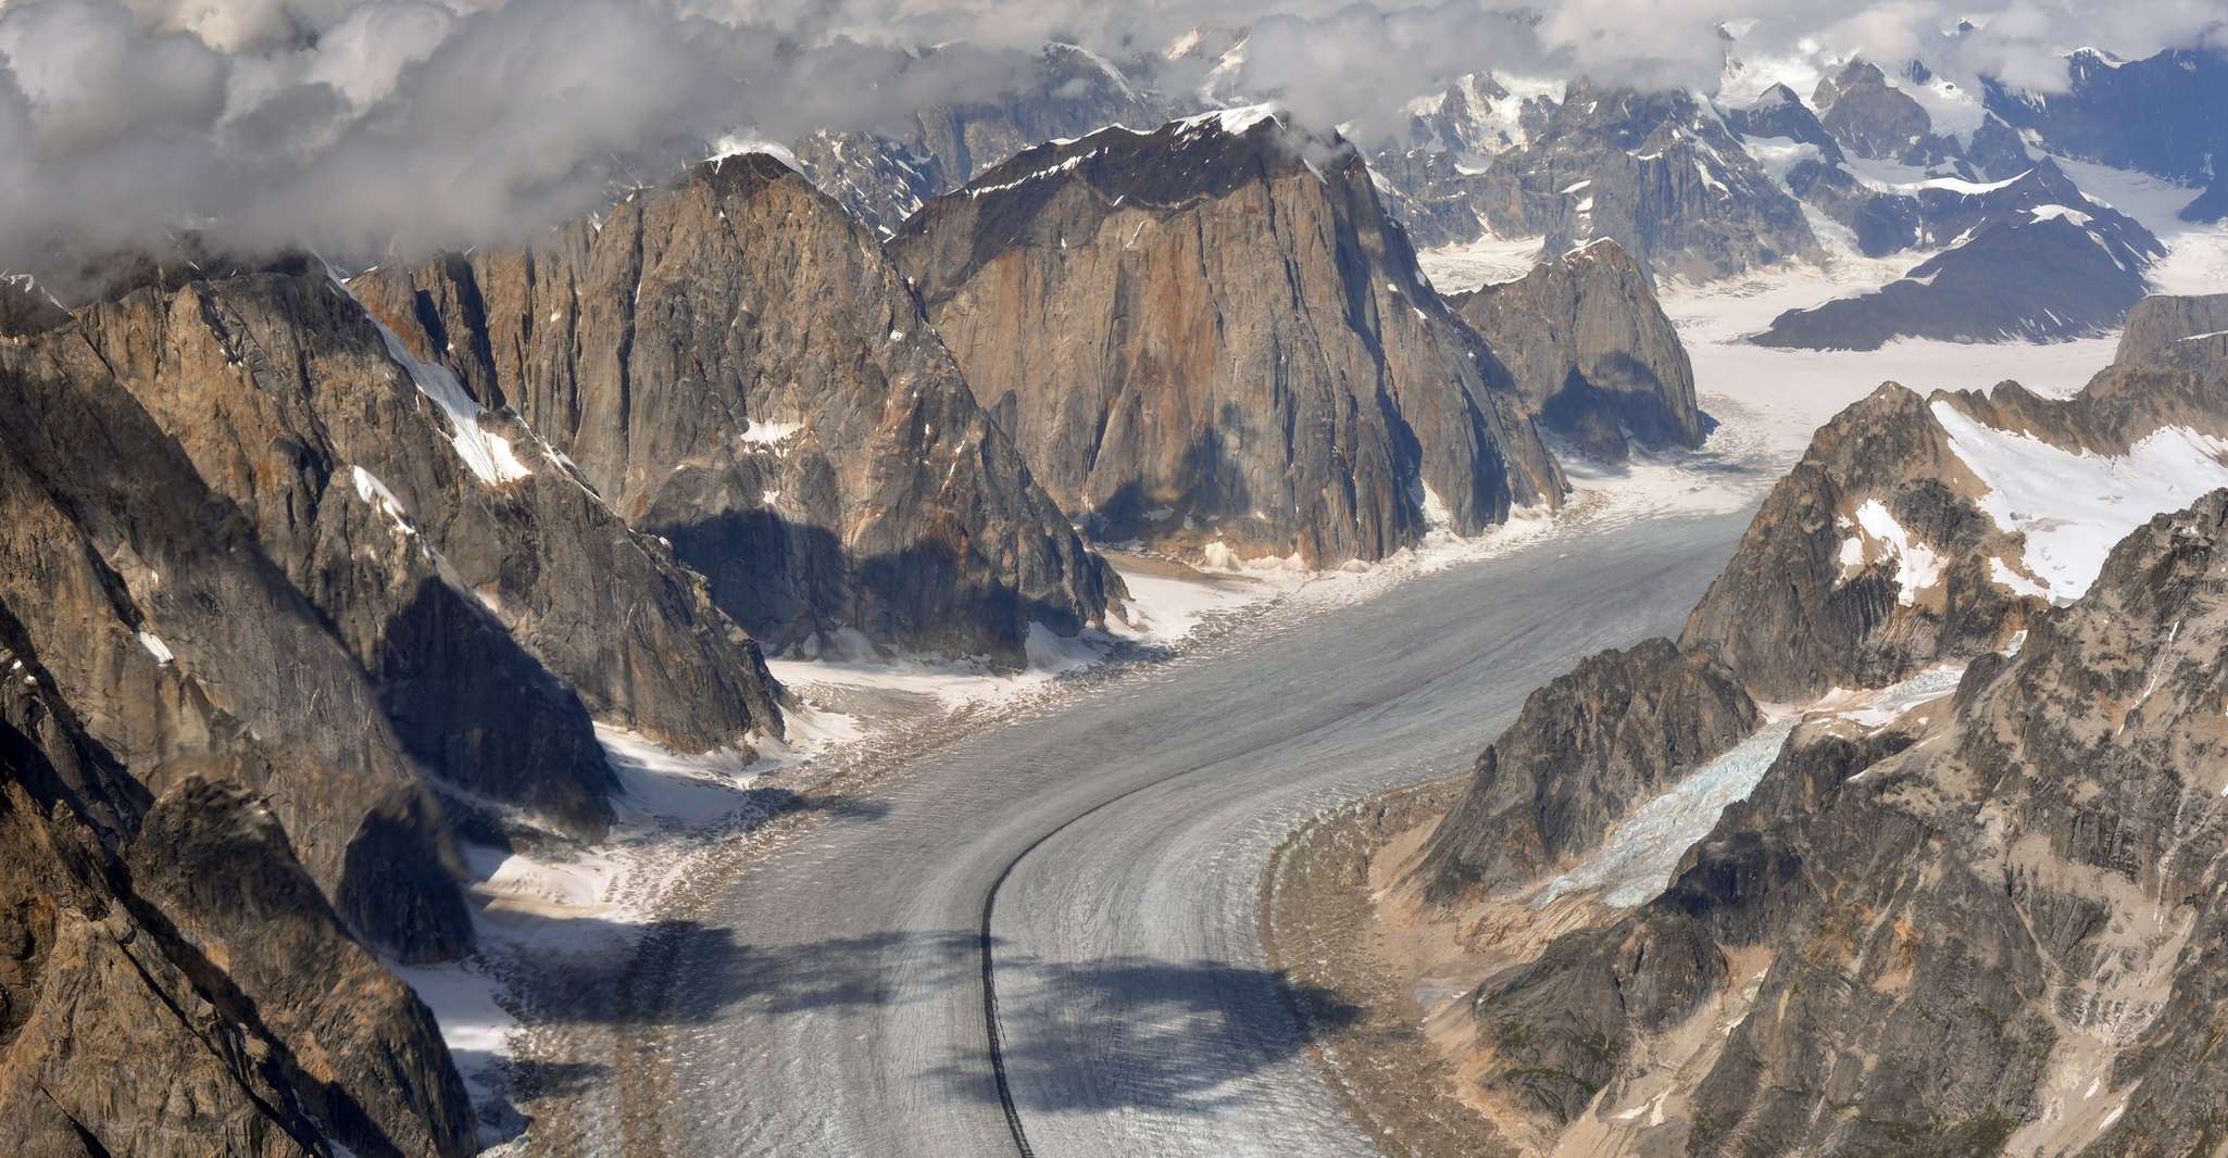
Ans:
[[[1562,497],[1359,156],[1268,111],[1040,145],[891,249],[976,396],[1103,537],[1341,563]]]

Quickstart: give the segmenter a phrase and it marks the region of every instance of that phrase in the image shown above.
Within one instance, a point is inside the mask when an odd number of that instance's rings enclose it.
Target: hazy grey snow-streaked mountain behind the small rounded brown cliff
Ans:
[[[1495,232],[1544,234],[1551,254],[1613,238],[1653,274],[1689,278],[1820,254],[1802,207],[1691,94],[1575,82],[1484,183]]]

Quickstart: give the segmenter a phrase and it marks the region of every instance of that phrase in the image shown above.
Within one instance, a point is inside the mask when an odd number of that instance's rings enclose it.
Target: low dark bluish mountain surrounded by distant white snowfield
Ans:
[[[1880,290],[1789,310],[1753,341],[1878,350],[1894,338],[2094,334],[2128,316],[2148,290],[2146,269],[2166,256],[2157,236],[2081,196],[2048,160],[2003,187],[1929,180],[1909,198],[1903,214],[1909,243],[1947,243],[1950,249]]]

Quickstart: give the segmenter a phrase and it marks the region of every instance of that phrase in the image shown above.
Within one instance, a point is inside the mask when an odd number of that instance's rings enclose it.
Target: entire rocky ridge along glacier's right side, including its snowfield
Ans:
[[[1462,1096],[1502,1138],[2150,1154],[2206,1136],[2228,1089],[2190,1058],[2221,980],[2186,951],[2203,915],[2179,897],[2221,886],[2206,713],[2228,381],[2170,352],[2217,316],[2150,298],[2072,399],[1883,385],[1773,488],[1680,644],[1593,657],[1526,701],[1408,868],[1426,904],[1548,904],[1542,882],[1756,728],[1751,695],[1963,666],[1947,697],[1796,726],[1638,909],[1486,917],[1546,922],[1446,1013]]]

